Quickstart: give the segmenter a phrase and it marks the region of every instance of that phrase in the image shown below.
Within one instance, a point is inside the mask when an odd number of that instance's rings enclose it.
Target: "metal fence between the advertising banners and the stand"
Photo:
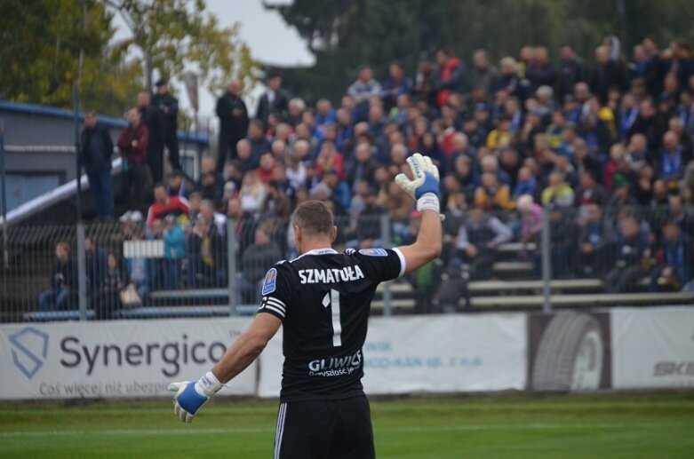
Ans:
[[[267,269],[296,257],[288,219],[221,214],[87,226],[10,226],[0,321],[211,317],[253,313]],[[416,213],[336,219],[337,249],[414,241]],[[691,289],[694,213],[532,207],[449,214],[442,257],[377,292],[374,313],[457,312],[537,295]],[[495,299],[497,298],[497,299]],[[500,299],[499,299],[500,298]],[[530,305],[530,303],[529,303]]]

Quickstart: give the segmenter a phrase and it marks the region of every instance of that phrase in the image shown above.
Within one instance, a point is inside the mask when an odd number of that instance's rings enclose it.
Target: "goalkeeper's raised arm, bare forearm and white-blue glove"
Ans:
[[[439,188],[439,170],[427,156],[419,153],[407,158],[413,178],[400,174],[395,182],[417,201],[417,210],[422,212],[417,241],[398,249],[403,253],[405,273],[418,270],[441,255],[442,229]]]

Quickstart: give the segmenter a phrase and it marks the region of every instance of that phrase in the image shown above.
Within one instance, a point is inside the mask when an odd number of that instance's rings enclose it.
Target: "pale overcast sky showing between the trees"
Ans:
[[[274,3],[291,3],[291,0],[274,0]],[[251,48],[253,58],[261,63],[291,67],[308,66],[314,62],[296,29],[288,27],[277,12],[265,10],[261,0],[207,0],[207,10],[219,18],[222,26],[238,22],[241,25],[241,38]],[[118,16],[116,27],[116,39],[129,35]],[[190,102],[183,86],[176,81],[172,84],[179,90],[180,106],[188,109]],[[258,88],[255,92],[258,91],[262,90]],[[200,89],[201,118],[214,116],[214,104],[218,96],[219,94],[210,94],[205,89]],[[252,111],[254,107],[249,109]]]

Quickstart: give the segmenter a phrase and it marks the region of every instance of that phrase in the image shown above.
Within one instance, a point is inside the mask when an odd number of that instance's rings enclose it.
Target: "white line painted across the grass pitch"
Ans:
[[[650,427],[682,427],[692,423],[573,423],[573,424],[521,424],[521,425],[443,425],[443,426],[408,426],[376,428],[375,431],[416,432],[416,431],[548,431],[562,429],[628,429]],[[83,435],[102,435],[113,437],[163,437],[169,435],[209,435],[215,433],[266,433],[273,432],[271,428],[227,428],[227,429],[116,429],[95,431],[7,431],[0,432],[0,438],[28,438],[28,437],[75,437]]]

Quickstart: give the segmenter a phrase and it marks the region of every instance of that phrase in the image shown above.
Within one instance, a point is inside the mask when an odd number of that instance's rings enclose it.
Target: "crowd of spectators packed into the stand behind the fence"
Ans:
[[[383,243],[384,214],[392,242],[410,241],[419,216],[394,178],[414,152],[439,166],[446,216],[441,264],[413,276],[418,292],[451,290],[439,286],[440,273],[489,279],[507,241],[522,242],[518,257],[538,266],[543,209],[554,277],[600,277],[610,292],[648,276],[652,290],[690,282],[692,46],[645,38],[625,51],[610,36],[586,60],[570,44],[556,60],[544,46],[523,46],[498,66],[484,50],[471,58],[468,68],[449,49],[423,53],[416,75],[393,62],[382,82],[363,67],[337,106],[307,107],[269,75],[253,118],[241,84],[229,83],[217,102],[216,161],[203,158],[195,183],[174,172],[156,186],[143,237],[166,241],[166,287],[225,280],[226,257],[204,254],[226,250],[233,218],[251,301],[267,266],[291,257],[287,218],[307,199],[330,205],[342,245]],[[149,157],[141,102],[118,142],[132,168],[132,211],[143,206],[138,169]],[[187,260],[185,275],[178,259]]]

